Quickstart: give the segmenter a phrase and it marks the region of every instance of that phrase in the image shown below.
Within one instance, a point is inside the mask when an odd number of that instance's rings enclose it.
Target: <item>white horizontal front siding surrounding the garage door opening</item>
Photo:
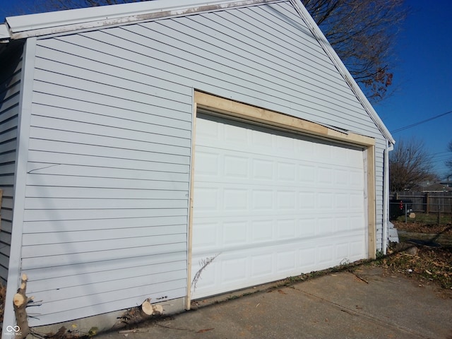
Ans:
[[[42,39],[36,55],[32,326],[186,294],[194,88],[376,138],[381,234],[384,140],[289,2]]]

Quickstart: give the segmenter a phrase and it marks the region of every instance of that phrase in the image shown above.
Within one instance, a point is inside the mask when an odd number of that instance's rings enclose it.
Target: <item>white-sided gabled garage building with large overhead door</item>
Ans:
[[[299,0],[18,16],[0,40],[4,326],[22,273],[44,326],[386,251],[393,138]]]

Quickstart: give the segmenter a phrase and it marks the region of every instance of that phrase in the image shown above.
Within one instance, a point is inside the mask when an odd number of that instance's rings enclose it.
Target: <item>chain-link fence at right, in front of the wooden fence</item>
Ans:
[[[389,211],[391,220],[451,224],[452,192],[391,193]]]

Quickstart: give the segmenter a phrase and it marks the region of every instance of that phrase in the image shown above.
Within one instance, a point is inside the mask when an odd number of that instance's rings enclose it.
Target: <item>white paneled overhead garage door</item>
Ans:
[[[367,257],[362,150],[198,114],[192,298]]]

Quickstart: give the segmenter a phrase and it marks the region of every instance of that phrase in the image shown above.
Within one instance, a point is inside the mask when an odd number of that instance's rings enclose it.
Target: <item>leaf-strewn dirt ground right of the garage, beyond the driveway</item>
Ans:
[[[403,273],[417,279],[420,285],[436,284],[445,297],[452,298],[452,225],[410,222],[394,222],[394,225],[398,231],[405,231],[403,238],[400,244],[392,244],[388,255],[378,258],[375,265],[388,273]]]

